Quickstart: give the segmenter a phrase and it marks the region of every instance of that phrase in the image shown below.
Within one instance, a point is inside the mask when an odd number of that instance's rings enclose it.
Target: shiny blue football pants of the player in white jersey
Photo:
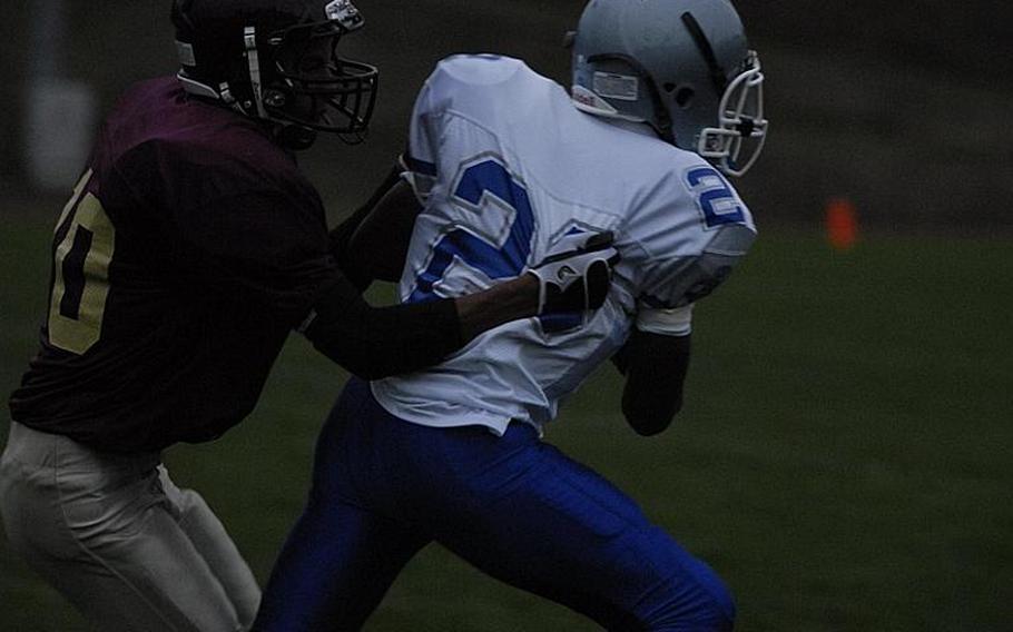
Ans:
[[[730,630],[728,590],[599,474],[511,424],[433,428],[352,379],[325,424],[313,486],[254,630],[358,630],[435,541],[483,572],[608,630]]]

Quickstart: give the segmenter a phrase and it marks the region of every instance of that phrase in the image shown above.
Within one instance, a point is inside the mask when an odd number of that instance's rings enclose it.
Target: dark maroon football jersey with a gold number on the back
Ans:
[[[139,83],[57,224],[12,418],[118,452],[215,438],[338,274],[319,196],[267,130],[175,78]]]

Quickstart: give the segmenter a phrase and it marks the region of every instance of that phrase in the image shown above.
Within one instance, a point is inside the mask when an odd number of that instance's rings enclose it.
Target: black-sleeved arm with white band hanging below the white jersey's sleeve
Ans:
[[[662,432],[682,407],[691,309],[642,309],[630,338],[612,358],[626,376],[622,413],[637,434]]]

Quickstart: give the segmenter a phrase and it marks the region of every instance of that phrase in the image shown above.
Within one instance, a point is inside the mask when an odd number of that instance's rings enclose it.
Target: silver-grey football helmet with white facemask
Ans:
[[[647,122],[731,176],[756,162],[764,75],[728,0],[591,0],[570,42],[581,110]]]

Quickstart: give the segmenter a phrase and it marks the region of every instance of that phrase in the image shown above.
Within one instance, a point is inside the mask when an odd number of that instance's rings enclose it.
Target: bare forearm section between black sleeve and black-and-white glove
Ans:
[[[519,318],[538,314],[538,279],[532,275],[494,285],[491,288],[454,300],[461,322],[461,337],[475,336]]]

